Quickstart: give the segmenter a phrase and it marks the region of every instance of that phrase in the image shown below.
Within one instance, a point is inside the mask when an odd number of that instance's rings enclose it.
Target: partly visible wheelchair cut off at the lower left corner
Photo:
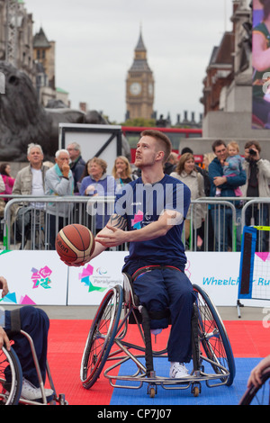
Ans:
[[[3,349],[0,350],[0,405],[47,405],[48,403],[51,405],[54,405],[56,403],[58,403],[59,405],[67,405],[67,401],[65,400],[64,394],[59,394],[57,396],[50,374],[48,361],[46,364],[46,370],[49,379],[49,386],[53,391],[53,395],[51,395],[49,398],[46,398],[44,384],[40,373],[40,365],[32,338],[27,332],[24,332],[22,329],[20,329],[20,333],[29,341],[31,347],[31,354],[33,357],[33,363],[35,365],[40,383],[40,392],[42,398],[40,400],[35,401],[24,400],[23,398],[21,398],[23,384],[22,366],[20,364],[18,356],[14,351],[14,348],[11,347],[10,351],[8,351],[5,347],[3,347]],[[8,380],[6,378],[6,371],[8,371],[9,374]]]

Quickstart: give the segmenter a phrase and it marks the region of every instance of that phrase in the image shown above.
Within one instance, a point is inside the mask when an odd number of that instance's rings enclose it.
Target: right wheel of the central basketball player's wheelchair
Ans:
[[[202,349],[206,357],[211,360],[211,366],[216,374],[224,374],[225,371],[220,366],[227,369],[226,385],[229,386],[233,383],[235,376],[235,362],[226,329],[207,293],[198,285],[193,285],[193,290],[199,310],[199,340]],[[224,381],[224,378],[220,380]]]

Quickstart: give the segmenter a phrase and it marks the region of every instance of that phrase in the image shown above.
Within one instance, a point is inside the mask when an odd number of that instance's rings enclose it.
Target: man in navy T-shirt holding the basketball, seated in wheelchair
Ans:
[[[151,329],[168,326],[170,377],[187,375],[184,363],[191,352],[191,319],[195,300],[186,275],[182,243],[184,218],[191,193],[181,181],[165,175],[163,168],[171,142],[157,130],[145,130],[136,149],[135,166],[141,176],[117,193],[114,214],[98,233],[94,255],[107,247],[130,243],[123,272],[131,275],[139,302],[151,317]]]

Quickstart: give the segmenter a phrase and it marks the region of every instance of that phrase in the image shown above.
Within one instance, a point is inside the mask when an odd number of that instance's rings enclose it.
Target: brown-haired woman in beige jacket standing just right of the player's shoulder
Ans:
[[[186,184],[191,190],[191,200],[196,200],[197,198],[204,197],[204,182],[203,176],[195,168],[195,161],[192,153],[184,153],[175,168],[175,172],[171,173],[171,176],[174,176],[177,179],[180,179],[184,184]],[[191,217],[193,218],[192,227],[193,231],[191,232]],[[186,246],[189,245],[189,238],[193,239],[193,247],[196,246],[197,238],[197,229],[201,228],[202,220],[205,218],[205,206],[204,204],[195,204],[193,206],[193,216],[191,216],[191,207],[187,213],[185,222],[184,222],[184,232],[185,232],[185,242]],[[195,237],[194,237],[195,236]]]

